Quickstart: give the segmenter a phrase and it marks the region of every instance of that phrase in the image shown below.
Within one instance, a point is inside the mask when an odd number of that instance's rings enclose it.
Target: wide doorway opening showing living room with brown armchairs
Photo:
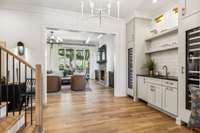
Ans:
[[[91,82],[114,88],[115,37],[115,34],[47,28],[47,92],[93,91]]]

